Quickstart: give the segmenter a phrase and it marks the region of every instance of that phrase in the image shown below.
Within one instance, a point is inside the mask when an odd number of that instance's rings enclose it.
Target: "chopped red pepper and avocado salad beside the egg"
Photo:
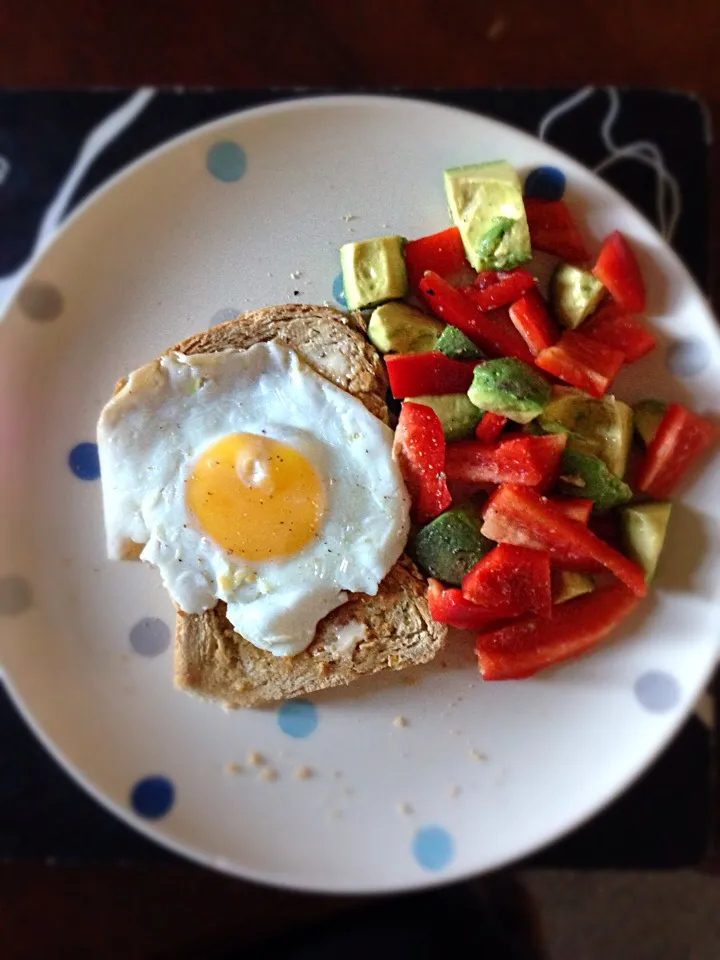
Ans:
[[[505,161],[445,171],[453,226],[341,249],[348,307],[402,401],[395,454],[432,616],[475,633],[486,680],[595,646],[647,591],[671,495],[716,439],[679,403],[608,390],[655,347],[615,231],[591,257],[568,205]],[[547,295],[534,251],[557,258]]]

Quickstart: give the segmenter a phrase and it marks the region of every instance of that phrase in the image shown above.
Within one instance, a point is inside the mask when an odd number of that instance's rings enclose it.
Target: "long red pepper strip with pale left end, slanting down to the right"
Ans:
[[[608,569],[637,594],[647,593],[638,564],[596,537],[584,524],[570,520],[547,497],[530,487],[504,484],[485,506],[482,533],[498,543],[545,550],[558,566]]]

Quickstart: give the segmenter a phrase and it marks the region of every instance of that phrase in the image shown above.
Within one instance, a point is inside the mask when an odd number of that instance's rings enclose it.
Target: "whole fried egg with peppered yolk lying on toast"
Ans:
[[[280,343],[167,354],[100,417],[108,554],[140,551],[181,610],[224,600],[243,637],[296,654],[349,592],[377,593],[404,549],[392,440]]]

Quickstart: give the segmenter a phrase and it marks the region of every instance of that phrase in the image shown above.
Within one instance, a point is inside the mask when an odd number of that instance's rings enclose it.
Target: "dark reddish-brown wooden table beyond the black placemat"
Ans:
[[[693,90],[720,124],[718,0],[0,0],[0,41],[3,86],[612,83]],[[0,954],[203,956],[353,905],[189,866],[7,864]]]

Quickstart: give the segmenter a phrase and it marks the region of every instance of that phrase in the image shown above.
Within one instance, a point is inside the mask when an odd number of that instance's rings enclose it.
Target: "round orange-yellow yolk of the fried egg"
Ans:
[[[207,447],[185,495],[205,533],[246,560],[295,553],[325,511],[325,490],[310,461],[253,433],[228,434]]]

